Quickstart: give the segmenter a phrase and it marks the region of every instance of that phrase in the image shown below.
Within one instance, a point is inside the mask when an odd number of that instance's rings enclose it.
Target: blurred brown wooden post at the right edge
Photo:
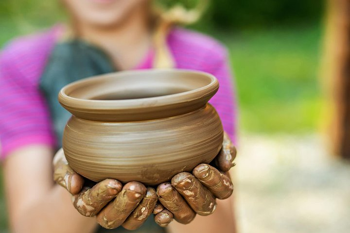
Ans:
[[[323,78],[332,112],[333,152],[350,159],[350,0],[328,0]]]

